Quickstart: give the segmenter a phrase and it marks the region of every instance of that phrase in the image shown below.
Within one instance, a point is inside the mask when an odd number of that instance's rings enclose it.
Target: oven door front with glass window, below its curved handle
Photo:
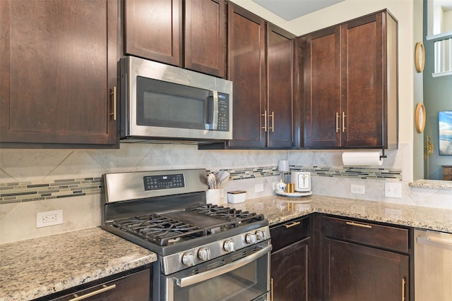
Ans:
[[[174,283],[177,301],[251,301],[265,295],[268,288],[268,256],[226,274],[181,288]],[[217,268],[220,269],[220,268]],[[176,280],[174,280],[176,282]],[[265,300],[265,299],[263,299]]]

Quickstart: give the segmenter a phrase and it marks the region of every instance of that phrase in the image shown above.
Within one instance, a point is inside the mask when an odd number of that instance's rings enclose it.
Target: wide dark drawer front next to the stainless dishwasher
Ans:
[[[408,253],[408,229],[323,216],[323,236]]]

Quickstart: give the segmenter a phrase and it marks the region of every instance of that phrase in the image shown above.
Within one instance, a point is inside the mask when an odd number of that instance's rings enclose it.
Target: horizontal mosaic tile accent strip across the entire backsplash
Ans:
[[[291,165],[290,169],[295,171],[309,171],[312,176],[402,180],[402,171],[399,169],[297,165]],[[230,173],[230,180],[280,176],[278,166],[223,170]],[[210,172],[207,171],[207,173]],[[0,183],[0,204],[78,197],[82,195],[99,195],[102,193],[102,186],[102,178],[61,179],[54,180],[52,183]]]

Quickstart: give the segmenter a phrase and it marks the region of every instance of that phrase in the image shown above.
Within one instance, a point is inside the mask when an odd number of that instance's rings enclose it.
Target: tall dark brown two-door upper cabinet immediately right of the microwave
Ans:
[[[293,147],[294,36],[229,4],[233,148]]]

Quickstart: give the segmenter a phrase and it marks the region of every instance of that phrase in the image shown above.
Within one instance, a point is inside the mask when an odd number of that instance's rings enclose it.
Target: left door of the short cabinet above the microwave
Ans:
[[[126,0],[126,54],[182,67],[182,0]]]

